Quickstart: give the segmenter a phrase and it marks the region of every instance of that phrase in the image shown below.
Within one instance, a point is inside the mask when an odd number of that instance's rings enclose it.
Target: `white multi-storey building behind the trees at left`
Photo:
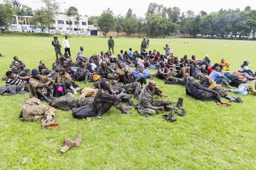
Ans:
[[[41,29],[34,28],[29,24],[29,19],[32,16],[19,17],[14,15],[11,27],[11,31],[32,31],[41,32]],[[50,33],[61,33],[61,34],[80,34],[84,35],[100,35],[100,31],[97,28],[88,27],[88,17],[80,16],[80,20],[77,21],[74,16],[68,17],[65,14],[58,14],[56,19],[52,21],[52,28]],[[48,30],[45,30],[48,32]]]

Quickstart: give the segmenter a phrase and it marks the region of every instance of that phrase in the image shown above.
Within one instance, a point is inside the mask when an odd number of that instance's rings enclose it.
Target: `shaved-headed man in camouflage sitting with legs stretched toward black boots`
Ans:
[[[156,82],[154,81],[150,81],[148,82],[148,85],[145,85],[145,87],[143,88],[143,90],[140,93],[139,96],[139,101],[140,101],[140,105],[150,111],[150,112],[155,112],[157,113],[157,111],[164,111],[164,107],[165,105],[170,105],[173,104],[175,102],[177,102],[177,100],[175,101],[169,101],[169,100],[160,100],[160,101],[154,101],[154,95],[160,96],[160,97],[165,97],[165,95],[162,94],[162,91],[156,87]]]

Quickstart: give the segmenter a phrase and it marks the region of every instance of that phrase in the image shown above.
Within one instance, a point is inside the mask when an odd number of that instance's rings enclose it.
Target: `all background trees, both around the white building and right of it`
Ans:
[[[18,0],[6,0],[0,4],[0,27],[8,27],[12,23],[13,14],[19,17],[33,15],[30,24],[41,30],[52,27],[52,20],[57,14],[74,16],[77,21],[81,19],[76,7],[71,6],[65,12],[59,12],[60,4],[56,0],[41,0],[45,7],[35,11]],[[71,25],[71,20],[69,20]],[[135,33],[148,37],[166,37],[173,34],[190,35],[192,37],[221,37],[221,38],[249,38],[255,40],[256,33],[256,10],[246,6],[244,10],[239,8],[220,9],[207,14],[200,11],[195,14],[188,10],[181,12],[178,7],[165,7],[161,4],[150,3],[145,17],[137,17],[129,8],[125,16],[113,14],[108,8],[100,16],[90,16],[88,24],[96,25],[104,35],[110,31],[116,31],[117,36],[125,31],[129,36]],[[79,25],[78,25],[79,26]]]

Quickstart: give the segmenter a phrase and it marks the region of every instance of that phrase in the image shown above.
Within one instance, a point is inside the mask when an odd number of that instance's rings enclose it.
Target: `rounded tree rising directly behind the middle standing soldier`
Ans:
[[[99,29],[107,36],[109,31],[112,31],[115,26],[115,17],[113,11],[108,8],[104,10],[97,20]]]

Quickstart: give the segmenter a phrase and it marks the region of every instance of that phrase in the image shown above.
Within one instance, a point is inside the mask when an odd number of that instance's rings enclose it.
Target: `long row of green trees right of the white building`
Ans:
[[[166,37],[180,34],[192,37],[235,37],[242,39],[252,36],[255,39],[256,10],[250,6],[240,10],[220,9],[217,12],[207,14],[200,11],[195,14],[188,10],[181,12],[178,7],[165,7],[157,3],[150,3],[145,17],[137,17],[129,8],[125,16],[114,16],[110,8],[103,11],[100,16],[90,16],[89,24],[97,25],[103,34],[110,31],[118,33],[125,31],[130,36],[138,33],[150,37]]]

